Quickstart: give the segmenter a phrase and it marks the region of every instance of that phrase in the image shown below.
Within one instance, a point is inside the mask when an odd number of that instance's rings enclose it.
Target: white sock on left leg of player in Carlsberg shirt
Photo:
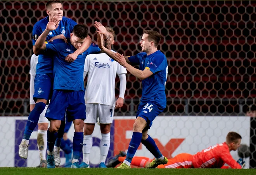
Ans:
[[[92,134],[83,135],[83,162],[89,164],[90,162],[90,151],[92,148]]]

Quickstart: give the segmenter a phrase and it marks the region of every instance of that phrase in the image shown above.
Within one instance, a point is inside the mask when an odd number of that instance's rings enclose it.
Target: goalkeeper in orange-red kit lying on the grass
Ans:
[[[157,168],[237,168],[241,169],[245,166],[245,161],[240,158],[235,161],[230,151],[236,151],[239,148],[242,137],[236,132],[229,132],[226,137],[226,142],[210,146],[207,149],[191,155],[181,153],[172,159],[168,159],[166,165],[158,165]],[[123,151],[115,156],[107,167],[115,167],[118,163],[125,160]],[[147,167],[150,161],[154,161],[146,157],[134,157],[131,165],[139,167]],[[224,166],[227,163],[229,166]]]

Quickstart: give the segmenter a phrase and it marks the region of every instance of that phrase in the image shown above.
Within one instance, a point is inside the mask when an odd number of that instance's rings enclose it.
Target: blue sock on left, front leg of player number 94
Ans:
[[[131,163],[131,160],[132,160],[134,154],[136,153],[138,146],[140,146],[141,140],[142,140],[142,133],[140,133],[140,132],[132,133],[131,141],[129,144],[129,148],[128,148],[125,160],[127,160],[128,162]]]

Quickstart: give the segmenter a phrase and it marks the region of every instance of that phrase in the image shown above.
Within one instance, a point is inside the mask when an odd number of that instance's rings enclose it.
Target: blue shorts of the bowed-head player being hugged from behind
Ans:
[[[76,119],[85,120],[86,108],[84,91],[53,91],[50,104],[45,113],[45,117],[47,117],[49,121],[51,119],[65,121],[66,111],[66,122],[70,122]]]

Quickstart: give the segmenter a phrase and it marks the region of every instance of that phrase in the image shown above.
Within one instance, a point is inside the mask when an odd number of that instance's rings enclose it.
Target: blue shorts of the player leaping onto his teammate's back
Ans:
[[[37,74],[34,81],[35,93],[33,99],[50,100],[52,96],[53,75],[52,74]]]

